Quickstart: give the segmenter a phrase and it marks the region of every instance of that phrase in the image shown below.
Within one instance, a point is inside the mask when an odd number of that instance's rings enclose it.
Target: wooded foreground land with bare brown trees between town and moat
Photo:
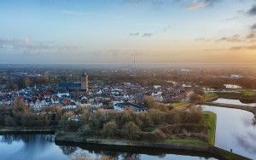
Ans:
[[[146,97],[147,111],[129,107],[124,111],[84,107],[71,111],[55,106],[38,113],[16,100],[11,107],[0,108],[0,133],[52,133],[56,142],[201,151],[243,159],[214,146],[216,115],[193,103],[162,104]]]

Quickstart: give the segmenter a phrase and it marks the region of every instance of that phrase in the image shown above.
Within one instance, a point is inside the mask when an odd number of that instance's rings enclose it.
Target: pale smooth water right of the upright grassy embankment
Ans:
[[[215,146],[256,159],[256,126],[254,115],[248,111],[202,106],[217,114]]]

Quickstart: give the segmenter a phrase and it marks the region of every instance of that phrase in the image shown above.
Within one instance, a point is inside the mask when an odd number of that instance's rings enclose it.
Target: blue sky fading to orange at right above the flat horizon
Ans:
[[[256,0],[1,0],[0,63],[253,63]]]

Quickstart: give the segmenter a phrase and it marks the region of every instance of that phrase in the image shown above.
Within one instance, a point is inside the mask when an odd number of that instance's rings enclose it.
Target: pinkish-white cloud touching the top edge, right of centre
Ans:
[[[187,9],[203,9],[212,6],[213,3],[218,2],[218,0],[193,0],[187,6]]]

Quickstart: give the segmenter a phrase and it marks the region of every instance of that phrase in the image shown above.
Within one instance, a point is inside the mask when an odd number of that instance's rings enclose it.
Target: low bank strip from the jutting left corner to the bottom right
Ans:
[[[158,149],[158,150],[166,150],[169,151],[183,151],[184,153],[188,152],[195,152],[199,153],[198,155],[207,155],[207,157],[215,157],[218,159],[236,159],[236,160],[246,160],[250,159],[247,157],[243,157],[236,153],[225,151],[221,148],[216,146],[188,146],[188,145],[181,145],[181,144],[167,144],[167,143],[148,143],[143,141],[131,141],[131,140],[102,140],[102,139],[86,139],[81,140],[76,137],[69,137],[66,136],[55,136],[55,143],[56,144],[77,144],[77,145],[96,145],[96,146],[106,146],[109,148],[116,148],[116,147],[134,147],[134,148],[148,148],[148,149]]]

